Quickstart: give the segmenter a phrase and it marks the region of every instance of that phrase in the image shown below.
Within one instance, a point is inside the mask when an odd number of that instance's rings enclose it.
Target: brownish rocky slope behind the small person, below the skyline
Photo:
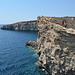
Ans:
[[[49,22],[62,25],[62,21],[66,20],[67,28],[75,29],[75,17],[43,17],[43,16],[39,16],[37,19],[38,19],[37,20],[38,25],[47,24]]]

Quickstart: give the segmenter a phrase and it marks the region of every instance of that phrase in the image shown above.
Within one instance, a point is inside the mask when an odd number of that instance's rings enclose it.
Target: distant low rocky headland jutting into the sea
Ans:
[[[18,22],[10,25],[4,25],[1,29],[5,30],[38,30],[37,20]]]

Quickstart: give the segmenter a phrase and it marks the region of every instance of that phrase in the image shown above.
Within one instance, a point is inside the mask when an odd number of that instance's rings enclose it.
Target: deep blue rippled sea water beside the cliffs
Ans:
[[[37,32],[0,29],[0,75],[45,75],[35,50],[25,45],[29,40],[36,41]]]

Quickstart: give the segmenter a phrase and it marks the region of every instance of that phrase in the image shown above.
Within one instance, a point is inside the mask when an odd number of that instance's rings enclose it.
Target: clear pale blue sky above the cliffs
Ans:
[[[38,16],[75,17],[75,0],[0,0],[0,24],[36,20]]]

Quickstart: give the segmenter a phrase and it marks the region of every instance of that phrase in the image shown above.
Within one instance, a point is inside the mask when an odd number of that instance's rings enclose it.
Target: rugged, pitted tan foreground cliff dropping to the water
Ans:
[[[45,18],[38,19],[38,66],[49,75],[75,75],[75,30]]]

